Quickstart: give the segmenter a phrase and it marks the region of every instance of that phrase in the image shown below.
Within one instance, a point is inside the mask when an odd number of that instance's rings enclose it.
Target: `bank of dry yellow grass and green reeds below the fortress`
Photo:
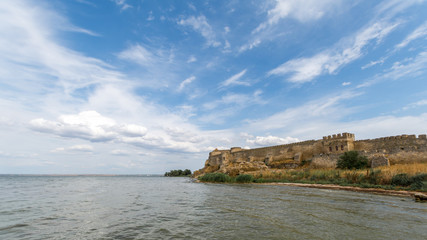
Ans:
[[[223,173],[208,173],[199,177],[199,180],[223,183],[317,183],[427,192],[427,163],[396,164],[361,170],[278,169],[250,172],[237,177]]]

